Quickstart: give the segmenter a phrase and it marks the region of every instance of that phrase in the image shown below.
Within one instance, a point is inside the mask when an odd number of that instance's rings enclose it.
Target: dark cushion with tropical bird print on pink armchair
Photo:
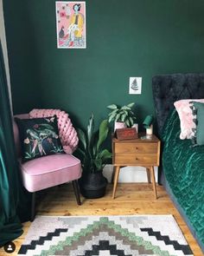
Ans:
[[[55,115],[48,118],[15,120],[22,144],[22,161],[48,154],[64,153]]]

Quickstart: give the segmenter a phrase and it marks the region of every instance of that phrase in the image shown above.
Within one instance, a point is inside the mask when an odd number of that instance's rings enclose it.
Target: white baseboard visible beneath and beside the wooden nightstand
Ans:
[[[108,182],[112,181],[112,165],[106,165],[103,174]],[[157,182],[158,167],[155,167],[155,178]],[[118,183],[125,182],[147,182],[147,173],[144,167],[122,167],[120,169]]]

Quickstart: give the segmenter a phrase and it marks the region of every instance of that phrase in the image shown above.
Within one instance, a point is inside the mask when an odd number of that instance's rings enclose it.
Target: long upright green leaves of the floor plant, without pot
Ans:
[[[103,171],[107,161],[112,158],[112,153],[104,148],[104,142],[108,135],[108,121],[103,120],[99,130],[94,131],[94,118],[91,115],[86,131],[78,128],[80,140],[78,152],[83,167],[83,172],[95,173]]]

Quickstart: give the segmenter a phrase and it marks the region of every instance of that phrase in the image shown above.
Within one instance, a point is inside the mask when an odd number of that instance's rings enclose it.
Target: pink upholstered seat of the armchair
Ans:
[[[29,192],[54,187],[81,176],[80,160],[72,154],[52,154],[21,163],[22,181]]]

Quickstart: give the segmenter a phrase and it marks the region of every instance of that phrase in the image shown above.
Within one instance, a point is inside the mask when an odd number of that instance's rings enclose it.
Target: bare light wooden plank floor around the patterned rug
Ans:
[[[194,256],[202,256],[201,249],[188,230],[182,217],[175,209],[169,196],[163,190],[163,187],[157,187],[157,200],[151,185],[144,183],[118,184],[116,199],[112,200],[112,185],[109,185],[105,197],[98,200],[86,200],[81,198],[82,205],[77,206],[71,184],[65,184],[61,187],[50,188],[38,195],[37,214],[40,215],[131,215],[131,214],[173,214],[178,225],[182,229],[188,244],[190,245]],[[16,255],[23,240],[28,232],[30,222],[23,225],[24,233],[15,240],[16,253],[4,253],[0,249],[0,255]]]

